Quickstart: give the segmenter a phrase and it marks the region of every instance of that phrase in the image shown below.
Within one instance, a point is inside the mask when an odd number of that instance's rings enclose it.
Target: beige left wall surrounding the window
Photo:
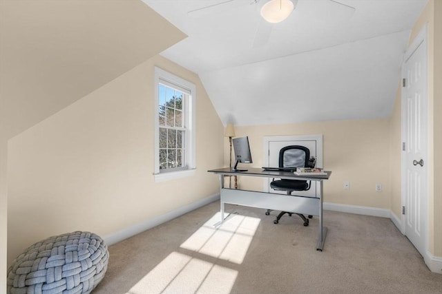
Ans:
[[[154,182],[154,66],[197,86],[193,177]],[[198,76],[155,56],[10,139],[8,264],[50,235],[108,235],[218,193],[222,133]]]

